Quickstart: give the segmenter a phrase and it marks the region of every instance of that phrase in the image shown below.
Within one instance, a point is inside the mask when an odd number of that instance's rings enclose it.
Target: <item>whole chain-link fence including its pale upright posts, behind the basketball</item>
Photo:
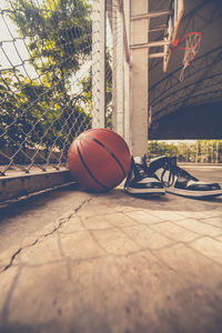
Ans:
[[[10,176],[65,171],[71,142],[90,128],[110,128],[125,138],[129,36],[124,7],[129,13],[129,1],[125,3],[1,1],[2,186]],[[11,190],[3,191],[10,198]]]

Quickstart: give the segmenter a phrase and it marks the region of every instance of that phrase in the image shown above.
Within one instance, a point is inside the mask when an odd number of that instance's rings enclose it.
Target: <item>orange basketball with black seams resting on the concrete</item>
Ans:
[[[88,191],[105,192],[127,176],[131,154],[125,141],[108,129],[81,133],[70,145],[68,168],[77,182]]]

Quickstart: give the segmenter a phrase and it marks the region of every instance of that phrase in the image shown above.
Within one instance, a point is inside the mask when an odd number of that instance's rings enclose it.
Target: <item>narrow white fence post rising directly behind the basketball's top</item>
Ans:
[[[92,128],[105,120],[105,1],[93,0],[92,13]]]

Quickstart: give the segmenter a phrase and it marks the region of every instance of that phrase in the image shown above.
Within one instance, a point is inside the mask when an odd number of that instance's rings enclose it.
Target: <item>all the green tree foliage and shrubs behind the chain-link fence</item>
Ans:
[[[70,83],[90,57],[91,7],[84,0],[43,3],[11,2],[9,16],[20,36],[28,38],[29,61],[39,77],[31,79],[14,69],[1,72],[1,147],[68,149],[91,123],[84,109],[90,95],[80,103]]]

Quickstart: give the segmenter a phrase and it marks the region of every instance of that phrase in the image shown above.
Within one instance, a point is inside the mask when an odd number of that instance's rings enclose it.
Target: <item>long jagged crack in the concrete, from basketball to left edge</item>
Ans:
[[[33,243],[28,244],[28,245],[26,245],[26,246],[20,248],[19,250],[17,250],[17,251],[12,254],[11,260],[10,260],[10,263],[9,263],[8,265],[6,265],[6,266],[0,271],[0,274],[3,273],[3,272],[6,272],[7,270],[9,270],[9,269],[13,265],[13,261],[14,261],[14,259],[17,258],[17,255],[18,255],[19,253],[21,253],[23,250],[26,250],[26,249],[28,249],[28,248],[31,248],[31,246],[36,245],[41,239],[44,239],[44,238],[47,238],[47,236],[53,234],[54,232],[57,232],[59,229],[62,228],[62,225],[63,225],[65,222],[70,221],[70,219],[72,218],[73,214],[75,214],[77,212],[79,212],[79,211],[81,210],[81,208],[82,208],[85,203],[89,203],[92,199],[93,199],[93,198],[83,200],[83,201],[74,209],[74,212],[70,213],[69,216],[62,218],[62,219],[60,220],[59,224],[58,224],[51,232],[48,232],[48,233],[41,235],[41,236],[40,236],[39,239],[37,239]]]

